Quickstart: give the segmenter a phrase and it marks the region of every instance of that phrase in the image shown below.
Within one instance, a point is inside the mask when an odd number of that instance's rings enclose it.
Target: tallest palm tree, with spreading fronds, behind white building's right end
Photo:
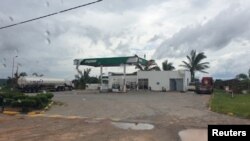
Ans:
[[[184,64],[180,65],[186,69],[188,69],[191,73],[191,82],[195,79],[195,72],[199,71],[202,73],[207,73],[204,71],[209,68],[209,62],[201,62],[203,59],[207,58],[204,52],[196,53],[196,50],[192,50],[190,52],[190,56],[187,55],[188,62],[182,61]]]

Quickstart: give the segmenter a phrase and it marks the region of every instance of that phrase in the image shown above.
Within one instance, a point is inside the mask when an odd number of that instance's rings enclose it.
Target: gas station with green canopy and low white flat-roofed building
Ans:
[[[191,81],[190,72],[187,70],[174,71],[143,71],[139,70],[132,74],[126,73],[126,66],[147,66],[149,61],[138,56],[87,58],[75,59],[74,65],[100,67],[100,92],[127,92],[128,90],[150,91],[187,91]],[[109,72],[106,78],[103,76],[103,67],[123,67],[123,73]],[[107,79],[107,80],[106,80]],[[105,81],[104,81],[105,80]],[[104,82],[107,82],[104,83]]]

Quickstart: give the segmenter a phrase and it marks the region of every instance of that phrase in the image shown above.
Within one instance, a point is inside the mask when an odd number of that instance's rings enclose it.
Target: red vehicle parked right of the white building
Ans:
[[[196,88],[198,94],[212,94],[214,89],[214,80],[212,77],[202,77],[200,85]]]

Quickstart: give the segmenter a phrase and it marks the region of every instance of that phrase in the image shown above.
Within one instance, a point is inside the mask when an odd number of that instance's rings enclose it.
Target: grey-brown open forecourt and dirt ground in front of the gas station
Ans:
[[[132,92],[55,93],[57,105],[39,116],[0,114],[0,141],[179,141],[184,129],[208,124],[250,124],[208,110],[210,95]],[[112,122],[150,123],[152,130],[115,127]]]

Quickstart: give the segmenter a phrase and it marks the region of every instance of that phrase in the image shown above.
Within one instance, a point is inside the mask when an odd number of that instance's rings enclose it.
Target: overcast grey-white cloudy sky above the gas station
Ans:
[[[91,0],[0,0],[0,27],[87,2]],[[181,69],[192,49],[207,55],[210,69],[205,75],[232,78],[246,73],[250,68],[249,0],[104,0],[2,29],[0,78],[11,76],[15,56],[19,71],[72,79],[76,58],[146,54],[160,66],[168,59]],[[91,75],[98,73],[98,68],[92,68]]]

